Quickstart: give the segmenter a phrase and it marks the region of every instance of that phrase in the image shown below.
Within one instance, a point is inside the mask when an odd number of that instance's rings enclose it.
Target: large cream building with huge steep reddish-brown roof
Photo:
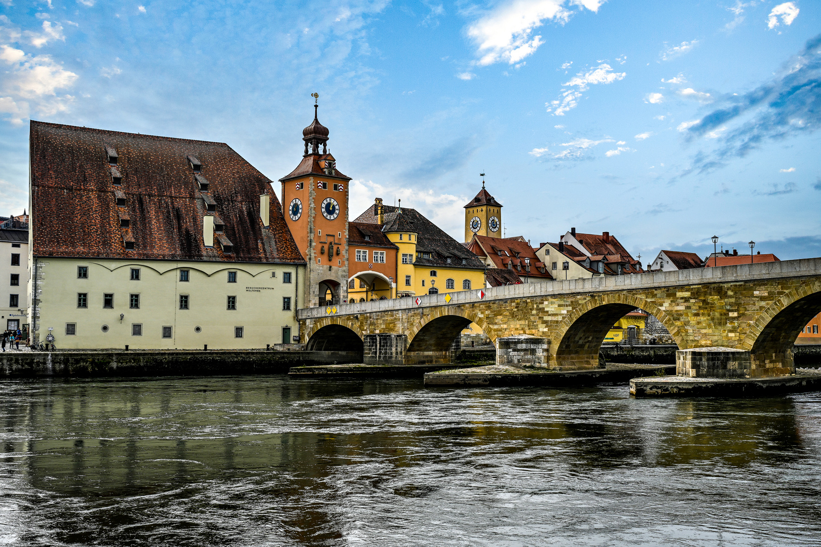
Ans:
[[[290,342],[305,260],[270,182],[227,144],[32,121],[33,341]]]

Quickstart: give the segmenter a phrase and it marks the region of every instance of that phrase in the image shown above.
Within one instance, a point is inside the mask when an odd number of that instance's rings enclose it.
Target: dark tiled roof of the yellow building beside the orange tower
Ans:
[[[438,226],[433,224],[427,218],[423,217],[420,212],[408,207],[402,207],[402,212],[398,212],[399,207],[391,205],[383,205],[384,226],[391,226],[393,221],[396,221],[396,216],[401,214],[403,218],[401,221],[406,223],[407,231],[416,233],[416,252],[430,253],[430,258],[421,258],[417,255],[414,258],[414,263],[420,266],[438,266],[438,267],[461,267],[476,270],[484,270],[486,267],[484,262],[471,253],[470,250],[460,244],[456,239],[447,235]],[[377,224],[376,213],[374,206],[368,207],[359,217],[354,219],[354,222],[362,222],[365,224]],[[447,258],[451,258],[452,262],[447,262]],[[462,264],[462,260],[465,261]]]

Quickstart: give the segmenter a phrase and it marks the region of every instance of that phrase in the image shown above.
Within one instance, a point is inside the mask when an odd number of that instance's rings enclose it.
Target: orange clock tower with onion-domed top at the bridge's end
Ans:
[[[314,98],[319,94],[314,93]],[[308,266],[300,283],[299,308],[342,303],[348,289],[348,181],[328,152],[328,128],[314,121],[302,130],[305,153],[290,175],[282,177],[282,207]]]

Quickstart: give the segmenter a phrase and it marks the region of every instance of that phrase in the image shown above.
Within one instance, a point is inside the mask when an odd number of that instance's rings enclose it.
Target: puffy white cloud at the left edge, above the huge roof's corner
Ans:
[[[71,95],[57,96],[68,89],[77,75],[67,71],[48,55],[32,57],[20,49],[0,46],[0,61],[8,65],[0,83],[0,112],[6,120],[21,125],[32,110],[45,115],[65,112]]]

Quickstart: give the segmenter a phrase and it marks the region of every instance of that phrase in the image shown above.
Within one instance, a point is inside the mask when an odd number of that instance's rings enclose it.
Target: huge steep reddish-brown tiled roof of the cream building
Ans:
[[[107,146],[117,151],[122,186],[112,184]],[[232,254],[204,246],[208,213],[189,155],[202,162]],[[30,165],[35,256],[305,262],[270,180],[227,144],[31,121]],[[261,194],[270,198],[267,229]],[[117,207],[119,196],[125,207]],[[131,219],[127,229],[121,212]]]

